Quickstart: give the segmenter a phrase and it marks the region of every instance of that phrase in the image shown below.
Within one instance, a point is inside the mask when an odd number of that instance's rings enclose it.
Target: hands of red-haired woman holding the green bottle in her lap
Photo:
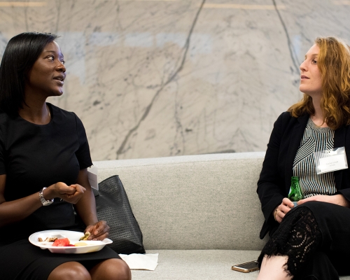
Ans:
[[[305,202],[318,201],[318,202],[328,202],[333,204],[338,204],[344,207],[350,207],[350,202],[345,199],[343,195],[314,195],[312,197],[304,198],[304,200],[299,200],[297,205],[301,205]],[[274,219],[281,223],[284,216],[294,207],[293,202],[291,202],[287,197],[284,197],[282,203],[279,204],[276,209],[274,209]]]

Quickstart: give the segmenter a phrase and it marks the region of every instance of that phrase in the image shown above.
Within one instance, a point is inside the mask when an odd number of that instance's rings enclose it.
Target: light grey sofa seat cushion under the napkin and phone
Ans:
[[[154,271],[132,270],[132,280],[255,280],[258,272],[236,272],[232,265],[256,260],[260,251],[150,250],[159,253]],[[350,276],[340,276],[350,280]]]

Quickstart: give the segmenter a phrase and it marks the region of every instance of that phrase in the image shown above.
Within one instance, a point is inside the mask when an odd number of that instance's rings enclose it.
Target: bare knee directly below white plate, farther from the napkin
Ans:
[[[48,280],[91,280],[90,273],[79,262],[64,262],[52,270]]]

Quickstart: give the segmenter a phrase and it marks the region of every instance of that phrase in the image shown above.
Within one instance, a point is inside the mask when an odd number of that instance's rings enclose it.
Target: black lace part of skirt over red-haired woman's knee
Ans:
[[[297,207],[290,211],[279,228],[262,249],[258,258],[259,266],[265,255],[287,255],[283,266],[288,276],[297,276],[305,263],[321,244],[322,235],[316,218],[307,207]]]

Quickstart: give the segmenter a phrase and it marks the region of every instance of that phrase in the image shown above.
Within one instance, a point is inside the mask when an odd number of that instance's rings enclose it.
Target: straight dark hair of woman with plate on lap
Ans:
[[[51,33],[25,32],[8,41],[0,65],[0,109],[17,113],[25,104],[27,73],[48,43],[57,38]]]

